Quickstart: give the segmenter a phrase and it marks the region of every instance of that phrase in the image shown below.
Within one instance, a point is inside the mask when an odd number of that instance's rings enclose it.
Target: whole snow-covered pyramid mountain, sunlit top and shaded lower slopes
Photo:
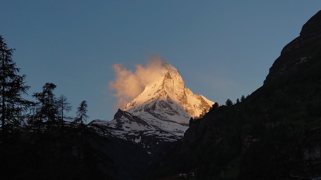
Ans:
[[[141,94],[117,111],[112,121],[91,123],[136,143],[147,136],[163,141],[176,141],[182,137],[189,119],[208,110],[214,102],[186,88],[172,65],[163,63],[161,72],[163,76],[146,85]]]

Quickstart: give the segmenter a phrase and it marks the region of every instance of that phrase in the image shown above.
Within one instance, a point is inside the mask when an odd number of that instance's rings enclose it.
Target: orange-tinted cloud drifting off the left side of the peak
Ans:
[[[126,70],[123,63],[114,64],[112,68],[115,71],[115,80],[109,82],[109,89],[116,92],[113,94],[118,98],[116,107],[123,109],[128,102],[144,91],[146,85],[164,76],[166,70],[163,63],[166,61],[160,56],[155,56],[146,63],[145,67],[141,64],[135,65],[134,72]]]

